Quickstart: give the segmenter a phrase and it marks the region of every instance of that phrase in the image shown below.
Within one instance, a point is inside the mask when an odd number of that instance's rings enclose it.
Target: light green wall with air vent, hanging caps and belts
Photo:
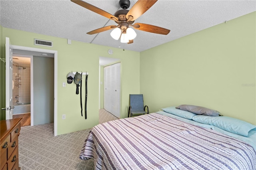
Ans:
[[[58,77],[57,77],[57,134],[65,134],[86,128],[91,128],[98,124],[99,109],[99,56],[110,57],[108,49],[110,47],[72,41],[67,44],[67,39],[44,36],[30,32],[1,28],[1,49],[4,47],[5,37],[9,37],[12,45],[26,47],[50,49],[58,51]],[[53,42],[53,47],[43,47],[34,45],[34,38]],[[121,117],[127,115],[130,93],[139,93],[139,71],[140,53],[119,48],[112,48],[114,53],[111,57],[119,58],[122,62],[122,113]],[[1,58],[4,53],[1,52]],[[4,57],[5,58],[5,57]],[[66,76],[70,71],[87,71],[88,76],[88,100],[87,100],[87,119],[81,117],[80,94],[76,95],[76,85],[67,84],[62,87],[62,82],[66,82]],[[2,74],[3,71],[1,71]],[[85,80],[85,78],[84,78]],[[1,88],[2,89],[2,88]],[[83,84],[83,105],[85,89]],[[1,101],[3,97],[1,96]],[[2,103],[2,102],[1,102]],[[84,106],[83,106],[84,107]],[[83,109],[84,110],[84,109]],[[66,119],[62,120],[62,114]],[[83,114],[84,115],[84,114]]]

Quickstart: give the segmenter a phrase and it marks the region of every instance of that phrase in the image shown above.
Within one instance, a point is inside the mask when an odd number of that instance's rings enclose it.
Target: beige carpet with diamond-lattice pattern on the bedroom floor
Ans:
[[[118,118],[104,109],[99,123]],[[93,170],[94,160],[78,158],[90,129],[54,136],[54,124],[21,127],[19,166],[21,170]]]

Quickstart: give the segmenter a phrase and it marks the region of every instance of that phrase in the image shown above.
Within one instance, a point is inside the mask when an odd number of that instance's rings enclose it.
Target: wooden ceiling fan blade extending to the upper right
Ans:
[[[130,9],[130,11],[126,14],[126,18],[129,21],[134,21],[139,18],[142,14],[144,14],[151,6],[156,3],[157,0],[138,0],[134,6]]]

